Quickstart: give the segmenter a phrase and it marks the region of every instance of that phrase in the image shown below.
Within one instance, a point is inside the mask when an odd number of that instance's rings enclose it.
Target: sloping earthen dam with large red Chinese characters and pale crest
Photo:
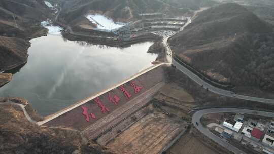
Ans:
[[[89,139],[96,139],[152,100],[165,84],[164,68],[167,65],[170,64],[161,63],[147,68],[107,90],[49,115],[37,124],[79,131]]]

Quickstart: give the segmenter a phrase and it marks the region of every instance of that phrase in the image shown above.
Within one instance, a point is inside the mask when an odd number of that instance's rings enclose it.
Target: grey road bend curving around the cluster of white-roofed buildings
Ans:
[[[264,112],[264,111],[256,111],[256,110],[249,110],[249,109],[237,109],[237,108],[212,108],[212,109],[204,109],[199,110],[195,112],[192,116],[192,123],[193,125],[205,136],[211,138],[219,145],[225,147],[226,149],[229,149],[230,151],[236,153],[236,154],[246,154],[242,150],[239,150],[235,146],[229,144],[224,139],[216,136],[212,132],[210,132],[207,128],[204,128],[202,124],[200,123],[200,118],[205,114],[212,114],[212,113],[241,113],[241,114],[252,114],[252,115],[259,115],[263,117],[271,117],[274,118],[274,112]],[[196,122],[198,125],[196,125]]]

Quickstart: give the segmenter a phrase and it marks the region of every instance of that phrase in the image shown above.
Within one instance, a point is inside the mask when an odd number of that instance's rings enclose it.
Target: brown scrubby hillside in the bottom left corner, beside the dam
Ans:
[[[19,106],[5,104],[7,101],[27,103],[20,98],[0,98],[0,153],[113,153],[87,141],[78,132],[32,124]],[[35,114],[30,113],[31,117],[37,116]]]

